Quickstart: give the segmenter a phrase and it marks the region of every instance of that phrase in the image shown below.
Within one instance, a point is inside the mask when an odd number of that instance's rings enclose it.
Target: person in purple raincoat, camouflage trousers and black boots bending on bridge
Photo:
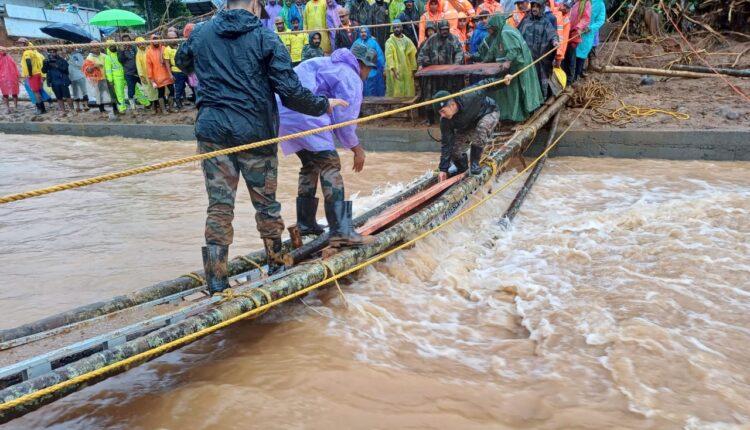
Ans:
[[[348,106],[335,109],[331,114],[310,116],[294,112],[281,104],[279,136],[307,131],[356,119],[362,104],[362,82],[376,67],[377,53],[365,45],[355,45],[333,51],[330,57],[318,57],[302,62],[294,68],[302,86],[318,96],[335,97],[348,102]],[[357,138],[357,126],[349,125],[333,131],[281,142],[284,155],[297,154],[302,162],[297,194],[297,228],[302,235],[320,235],[323,228],[315,220],[318,199],[315,197],[318,181],[323,189],[325,213],[329,227],[329,243],[333,247],[361,246],[374,238],[362,236],[352,225],[352,202],[345,200],[344,180],[341,177],[341,160],[336,152],[334,137],[342,147],[354,153],[355,172],[365,164],[365,151]]]

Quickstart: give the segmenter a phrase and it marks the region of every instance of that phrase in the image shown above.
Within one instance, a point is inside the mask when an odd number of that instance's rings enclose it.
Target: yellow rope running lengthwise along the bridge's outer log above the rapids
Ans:
[[[588,106],[586,106],[586,107],[588,107]],[[455,217],[448,219],[443,224],[439,224],[436,227],[433,227],[430,230],[428,230],[428,231],[426,231],[426,232],[424,232],[424,233],[416,236],[415,238],[413,238],[413,239],[411,239],[409,241],[406,241],[406,242],[402,243],[401,245],[398,245],[398,246],[396,246],[396,247],[394,247],[394,248],[392,248],[392,249],[390,249],[390,250],[388,250],[386,252],[378,254],[378,255],[372,257],[371,259],[369,259],[367,261],[364,261],[364,262],[362,262],[362,263],[360,263],[360,264],[358,264],[358,265],[356,265],[356,266],[354,266],[354,267],[352,267],[350,269],[347,269],[347,270],[344,270],[344,271],[342,271],[342,272],[340,272],[338,274],[335,274],[331,278],[328,278],[327,277],[327,273],[326,273],[326,278],[324,280],[318,282],[318,283],[310,285],[309,287],[303,288],[303,289],[301,289],[301,290],[299,290],[297,292],[294,292],[292,294],[289,294],[287,296],[280,297],[277,300],[269,301],[265,305],[262,305],[262,306],[254,308],[254,309],[251,309],[251,310],[249,310],[247,312],[244,312],[244,313],[242,313],[240,315],[237,315],[237,316],[235,316],[233,318],[230,318],[230,319],[228,319],[226,321],[220,322],[220,323],[218,323],[216,325],[212,325],[210,327],[206,327],[206,328],[201,329],[201,330],[199,330],[199,331],[197,331],[195,333],[191,333],[191,334],[189,334],[187,336],[181,337],[179,339],[175,339],[175,340],[173,340],[171,342],[167,342],[167,343],[165,343],[163,345],[160,345],[160,346],[158,346],[158,347],[156,347],[154,349],[150,349],[148,351],[144,351],[144,352],[141,352],[139,354],[132,355],[132,356],[130,356],[130,357],[124,359],[124,360],[118,361],[116,363],[108,364],[108,365],[106,365],[104,367],[101,367],[99,369],[93,370],[91,372],[84,373],[82,375],[73,377],[73,378],[68,379],[66,381],[59,382],[59,383],[57,383],[55,385],[51,385],[51,386],[49,386],[47,388],[43,388],[41,390],[34,391],[33,393],[25,394],[25,395],[23,395],[21,397],[18,397],[16,399],[7,401],[5,403],[2,403],[2,404],[0,404],[0,412],[6,411],[8,409],[15,408],[17,406],[23,405],[24,403],[32,401],[32,400],[43,398],[43,397],[45,397],[47,395],[55,393],[56,391],[65,390],[65,389],[67,389],[69,387],[73,387],[73,386],[75,386],[77,384],[82,384],[82,383],[85,383],[85,382],[90,381],[92,379],[96,379],[96,378],[98,378],[100,376],[106,375],[109,372],[114,372],[114,371],[119,370],[119,369],[128,369],[132,365],[135,365],[137,363],[146,361],[146,360],[148,360],[150,358],[153,358],[153,357],[156,357],[158,355],[161,355],[161,354],[167,353],[169,351],[172,351],[174,349],[177,349],[177,348],[179,348],[179,347],[181,347],[183,345],[186,345],[186,344],[191,343],[191,342],[193,342],[195,340],[198,340],[198,339],[200,339],[200,338],[202,338],[202,337],[204,337],[204,336],[206,336],[208,334],[211,334],[211,333],[213,333],[215,331],[218,331],[218,330],[221,330],[221,329],[223,329],[225,327],[228,327],[228,326],[230,326],[230,325],[232,325],[234,323],[242,321],[243,319],[258,316],[261,313],[267,311],[268,309],[270,309],[270,308],[272,308],[274,306],[278,306],[278,305],[280,305],[282,303],[286,303],[286,302],[288,302],[290,300],[293,300],[293,299],[295,299],[297,297],[303,296],[303,295],[309,293],[310,291],[313,291],[315,289],[318,289],[318,288],[320,288],[320,287],[322,287],[322,286],[330,283],[331,281],[337,281],[338,279],[341,279],[344,276],[348,276],[348,275],[350,275],[350,274],[352,274],[352,273],[354,273],[354,272],[356,272],[358,270],[361,270],[361,269],[363,269],[363,268],[365,268],[367,266],[370,266],[370,265],[372,265],[372,264],[374,264],[374,263],[376,263],[376,262],[378,262],[380,260],[383,260],[384,258],[386,258],[386,257],[388,257],[388,256],[390,256],[390,255],[392,255],[392,254],[394,254],[394,253],[396,253],[396,252],[398,252],[398,251],[406,248],[406,247],[409,247],[409,246],[413,245],[414,243],[416,243],[416,242],[418,242],[418,241],[426,238],[427,236],[435,233],[438,230],[441,230],[441,229],[443,229],[443,228],[445,228],[445,227],[453,224],[457,220],[459,220],[459,219],[463,218],[464,216],[466,216],[467,214],[473,212],[476,208],[478,208],[479,206],[483,205],[489,199],[491,199],[492,197],[494,197],[495,195],[497,195],[498,193],[500,193],[501,191],[503,191],[504,189],[506,189],[507,187],[509,187],[511,184],[513,184],[522,175],[524,175],[531,168],[533,168],[539,162],[539,160],[541,160],[543,157],[547,156],[547,154],[557,145],[557,143],[560,142],[560,139],[562,139],[563,136],[565,136],[565,134],[570,130],[570,128],[573,126],[573,124],[576,123],[576,121],[578,120],[578,118],[580,118],[580,116],[586,110],[586,107],[584,107],[584,109],[582,109],[578,113],[578,115],[576,115],[576,117],[573,119],[573,121],[571,121],[570,125],[568,125],[568,127],[562,132],[562,134],[560,134],[560,136],[558,136],[557,139],[555,139],[555,141],[552,142],[552,144],[550,144],[549,147],[547,147],[547,149],[544,152],[542,152],[541,155],[539,155],[539,157],[537,157],[528,166],[526,166],[525,169],[523,169],[520,172],[518,172],[516,175],[514,175],[510,180],[508,180],[506,183],[504,183],[497,190],[495,190],[492,193],[488,194],[486,197],[484,197],[483,199],[481,199],[479,202],[473,204],[472,206],[468,207],[467,209],[464,209],[463,211],[461,211]],[[260,289],[256,288],[256,290],[260,290]],[[266,292],[266,293],[268,293],[268,292]],[[229,293],[229,294],[231,294],[231,293]],[[270,296],[271,296],[270,293],[268,293],[267,298],[270,297]]]

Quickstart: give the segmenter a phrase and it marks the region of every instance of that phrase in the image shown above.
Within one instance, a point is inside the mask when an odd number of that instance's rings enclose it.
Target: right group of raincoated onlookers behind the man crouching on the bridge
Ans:
[[[265,12],[264,24],[295,66],[337,48],[374,49],[377,67],[364,95],[388,97],[413,97],[414,72],[422,67],[504,62],[513,72],[556,47],[536,66],[541,96],[548,97],[553,67],[569,82],[583,74],[605,17],[602,0],[269,0]],[[445,85],[431,86],[455,89]]]

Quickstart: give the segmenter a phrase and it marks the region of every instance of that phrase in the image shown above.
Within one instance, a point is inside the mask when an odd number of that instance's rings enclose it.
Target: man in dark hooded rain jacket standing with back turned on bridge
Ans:
[[[284,106],[320,116],[341,100],[303,87],[278,36],[263,26],[258,0],[229,0],[227,10],[197,26],[180,46],[177,66],[200,81],[195,135],[198,151],[211,152],[276,137]],[[281,205],[276,201],[276,145],[209,158],[202,163],[208,193],[203,265],[210,293],[229,288],[227,256],[234,231],[234,202],[242,174],[268,258],[268,273],[281,268]]]

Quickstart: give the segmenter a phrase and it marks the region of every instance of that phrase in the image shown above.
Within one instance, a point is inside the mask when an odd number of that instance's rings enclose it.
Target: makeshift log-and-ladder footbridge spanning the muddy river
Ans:
[[[202,295],[203,273],[196,271],[0,331],[0,366],[4,366],[0,368],[0,423],[329,285],[454,222],[465,213],[469,198],[507,170],[569,98],[566,92],[549,102],[502,146],[496,145],[499,149],[489,154],[481,174],[459,175],[441,183],[434,175],[418,178],[358,217],[355,226],[375,235],[372,245],[320,258],[325,234],[296,249],[287,241],[284,250],[290,267],[286,271],[264,277],[262,251],[235,258],[230,262],[234,286],[224,296]]]

